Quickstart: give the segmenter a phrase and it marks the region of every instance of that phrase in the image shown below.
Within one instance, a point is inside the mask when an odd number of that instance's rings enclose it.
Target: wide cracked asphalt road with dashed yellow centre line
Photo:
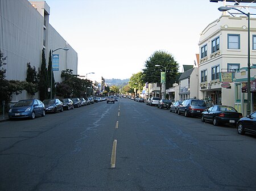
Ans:
[[[256,135],[129,99],[0,122],[0,190],[256,190]]]

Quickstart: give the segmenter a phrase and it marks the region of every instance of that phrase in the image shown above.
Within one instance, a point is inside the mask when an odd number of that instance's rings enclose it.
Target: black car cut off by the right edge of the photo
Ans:
[[[247,114],[246,117],[240,118],[237,122],[238,134],[245,134],[245,132],[256,134],[256,112]]]

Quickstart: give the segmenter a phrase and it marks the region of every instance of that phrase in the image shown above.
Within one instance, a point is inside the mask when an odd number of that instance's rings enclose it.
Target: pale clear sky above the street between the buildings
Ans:
[[[193,65],[200,32],[218,19],[209,0],[46,0],[50,24],[76,50],[78,74],[126,79],[156,50]],[[181,70],[180,70],[181,71]]]

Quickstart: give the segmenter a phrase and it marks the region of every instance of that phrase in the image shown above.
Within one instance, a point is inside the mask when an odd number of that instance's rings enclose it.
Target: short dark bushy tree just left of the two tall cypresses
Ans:
[[[38,92],[38,72],[34,67],[31,67],[30,62],[27,63],[27,78],[24,83],[24,89],[31,95],[31,98]]]

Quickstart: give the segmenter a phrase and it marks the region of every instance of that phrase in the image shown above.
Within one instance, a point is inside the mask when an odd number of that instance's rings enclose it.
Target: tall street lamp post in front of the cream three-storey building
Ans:
[[[248,56],[247,56],[247,114],[251,113],[251,65],[250,65],[250,12],[245,13],[234,7],[221,6],[218,7],[219,11],[228,11],[230,9],[237,10],[248,18]]]

